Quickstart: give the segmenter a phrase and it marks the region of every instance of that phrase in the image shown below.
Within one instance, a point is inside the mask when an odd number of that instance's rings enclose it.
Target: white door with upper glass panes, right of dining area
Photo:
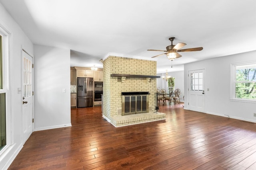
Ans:
[[[188,72],[188,109],[205,113],[205,71]]]

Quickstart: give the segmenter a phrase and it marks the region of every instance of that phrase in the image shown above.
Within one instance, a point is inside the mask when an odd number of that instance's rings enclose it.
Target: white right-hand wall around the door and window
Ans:
[[[205,68],[206,113],[256,122],[256,103],[230,101],[230,64],[246,61],[256,61],[256,51],[219,57],[184,65],[184,75],[189,70]],[[184,77],[184,87],[188,88],[188,78]],[[188,91],[185,91],[185,96]],[[184,108],[187,108],[188,98],[185,97]]]

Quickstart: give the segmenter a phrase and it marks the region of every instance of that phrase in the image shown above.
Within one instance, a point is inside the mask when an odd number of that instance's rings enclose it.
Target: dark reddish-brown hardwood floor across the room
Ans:
[[[166,120],[118,128],[72,108],[72,127],[32,133],[9,169],[256,170],[256,124],[159,107]]]

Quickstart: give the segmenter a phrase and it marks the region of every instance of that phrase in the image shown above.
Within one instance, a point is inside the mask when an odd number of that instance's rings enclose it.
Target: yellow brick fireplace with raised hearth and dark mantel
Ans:
[[[156,61],[108,56],[103,60],[103,110],[102,115],[114,126],[132,125],[165,119],[164,113],[155,111],[156,106]],[[122,95],[125,93],[147,92],[147,111],[132,111],[122,115]],[[126,98],[128,100],[128,98]],[[132,97],[132,100],[140,101]],[[142,107],[142,106],[141,106]],[[144,106],[143,106],[144,107]],[[124,108],[123,108],[124,109]],[[128,106],[126,106],[126,110]],[[141,108],[142,109],[142,108]],[[130,114],[136,113],[136,114]],[[137,114],[140,113],[140,114]]]

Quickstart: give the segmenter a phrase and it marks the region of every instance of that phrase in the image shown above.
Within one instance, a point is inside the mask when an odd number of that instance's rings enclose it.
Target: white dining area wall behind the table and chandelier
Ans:
[[[162,76],[166,76],[166,73],[157,74],[157,76],[161,76],[161,78],[156,79],[156,87],[158,89],[164,88],[167,92],[167,83],[166,80],[163,80]],[[180,101],[183,102],[184,96],[184,71],[176,71],[176,72],[168,72],[168,76],[175,77],[175,89],[180,89]]]

